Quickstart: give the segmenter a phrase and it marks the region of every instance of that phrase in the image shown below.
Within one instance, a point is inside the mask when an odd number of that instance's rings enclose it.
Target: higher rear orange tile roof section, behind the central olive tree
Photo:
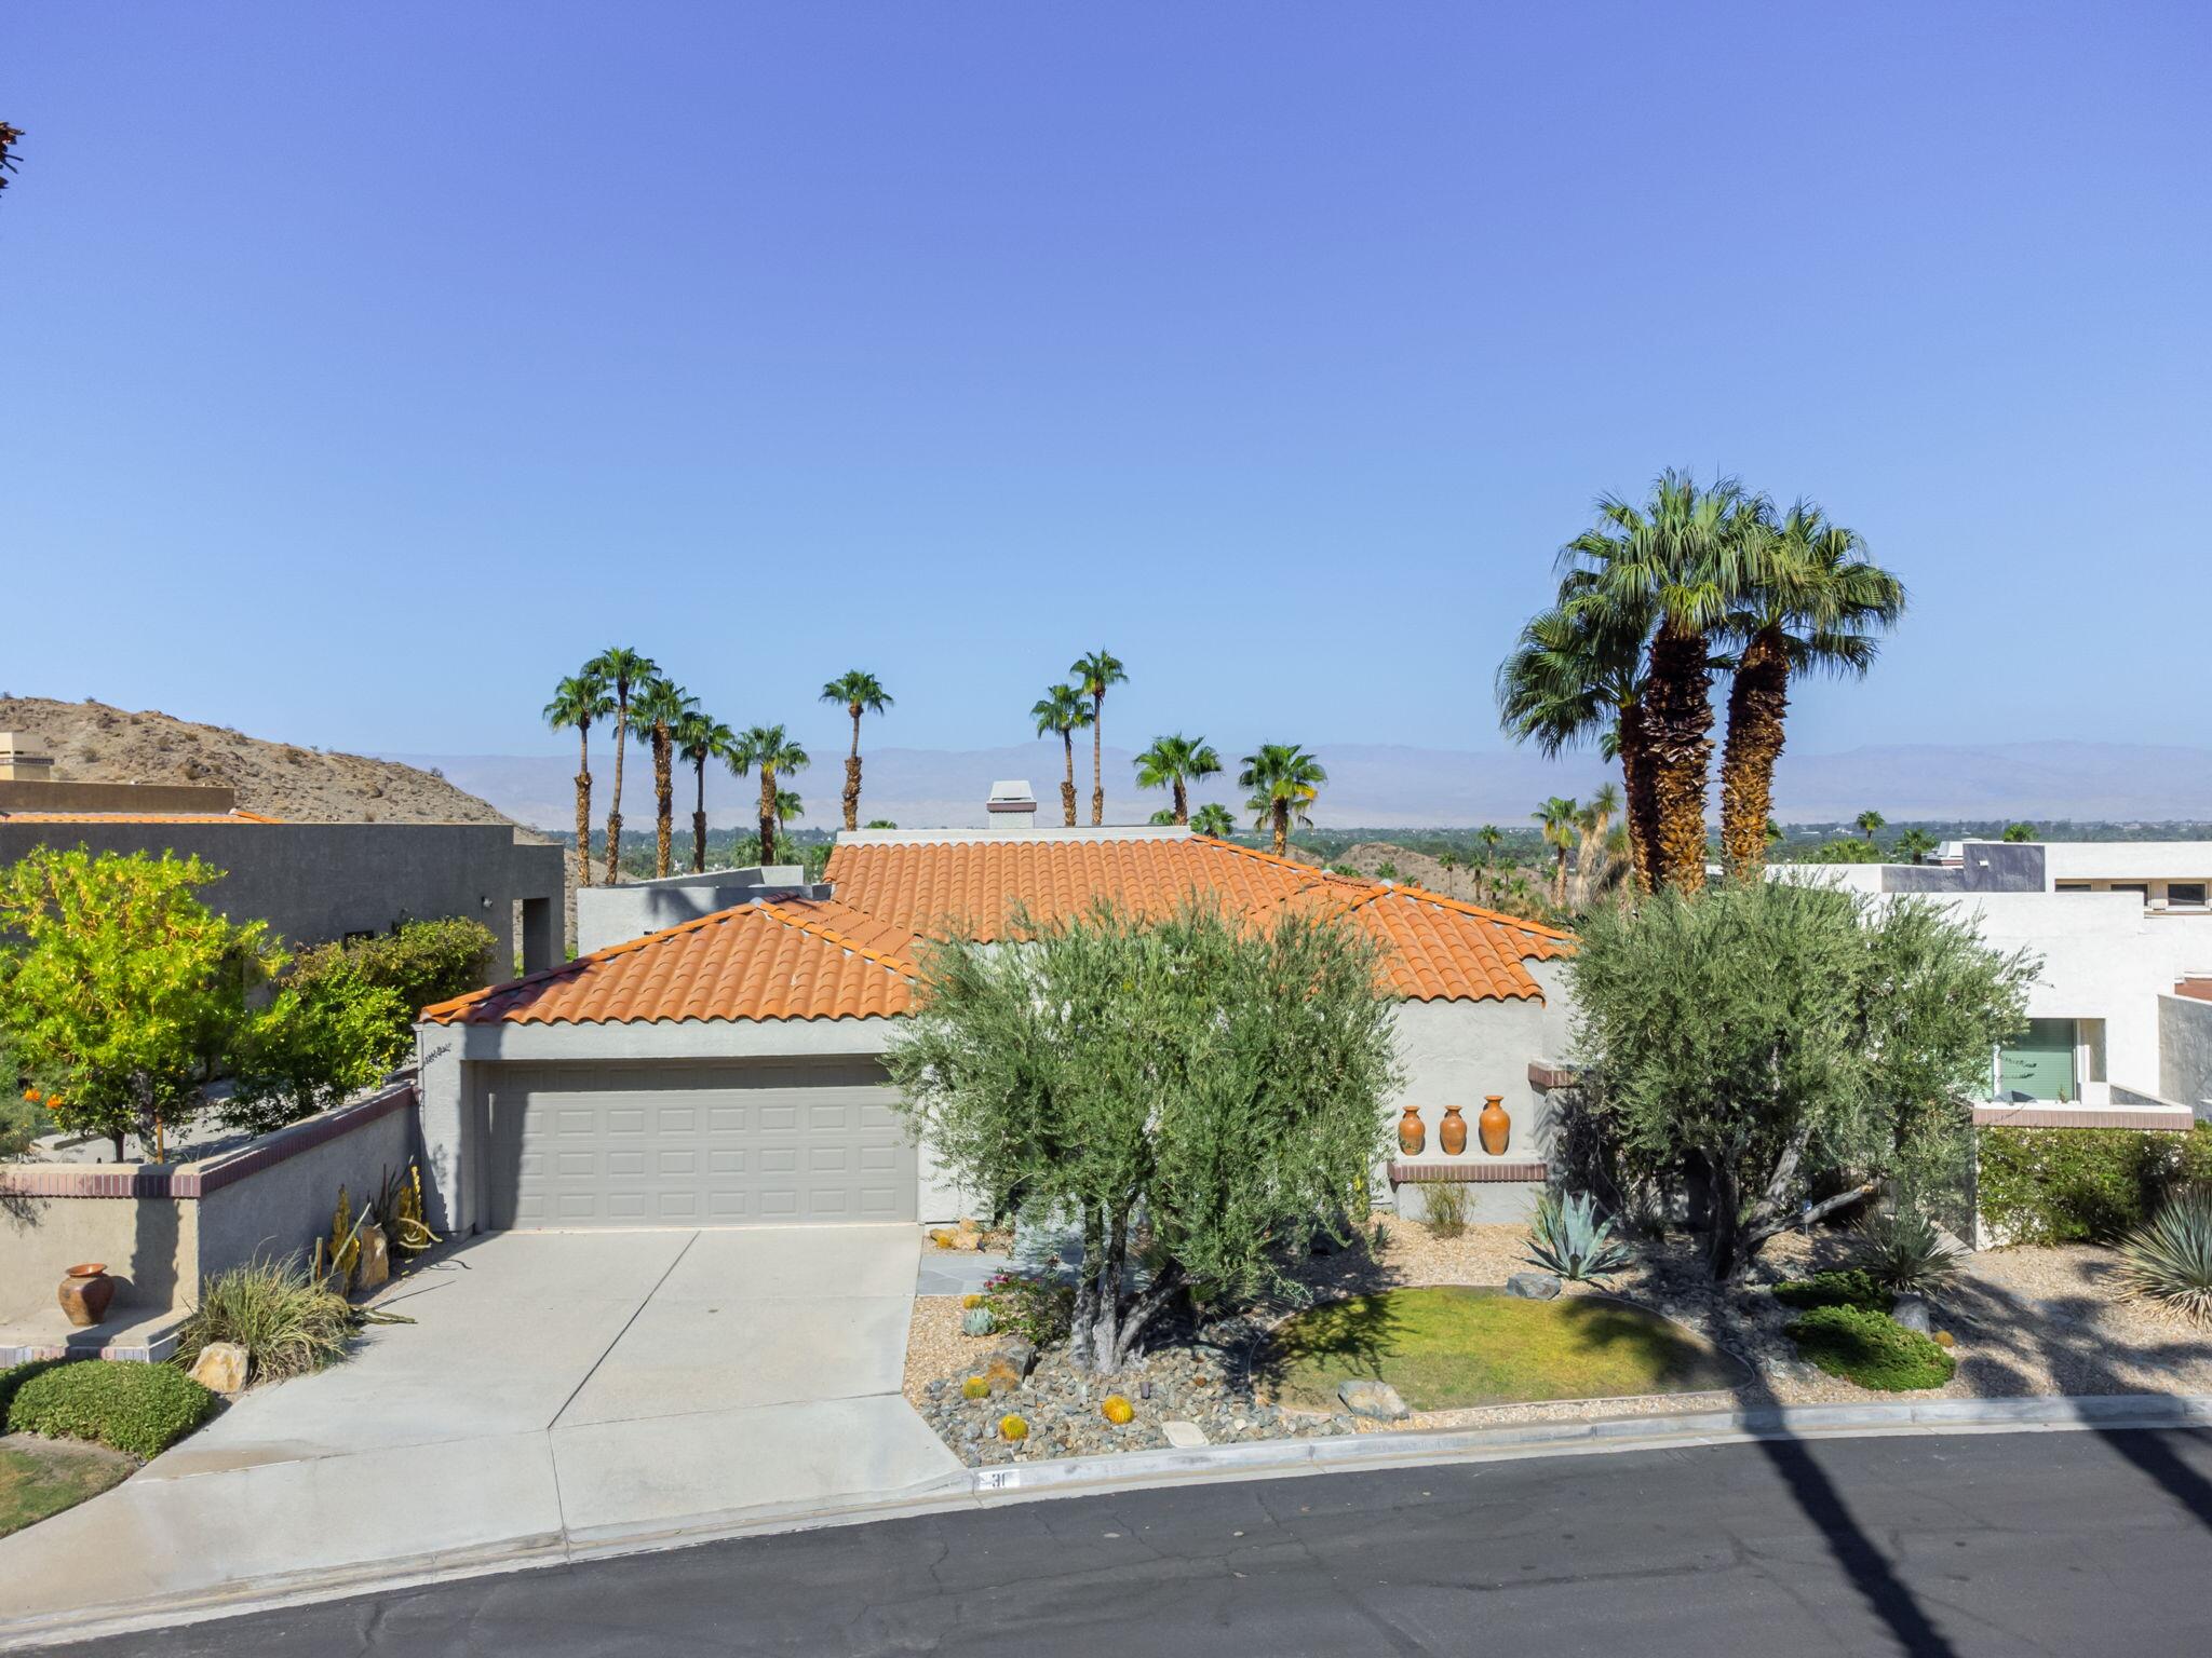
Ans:
[[[1104,898],[1168,915],[1197,893],[1263,920],[1314,906],[1356,920],[1385,946],[1389,988],[1413,1001],[1544,999],[1524,966],[1573,955],[1575,940],[1418,886],[1332,875],[1208,836],[841,842],[825,880],[841,904],[896,917],[918,935],[1006,937],[1018,911],[1064,920]]]

